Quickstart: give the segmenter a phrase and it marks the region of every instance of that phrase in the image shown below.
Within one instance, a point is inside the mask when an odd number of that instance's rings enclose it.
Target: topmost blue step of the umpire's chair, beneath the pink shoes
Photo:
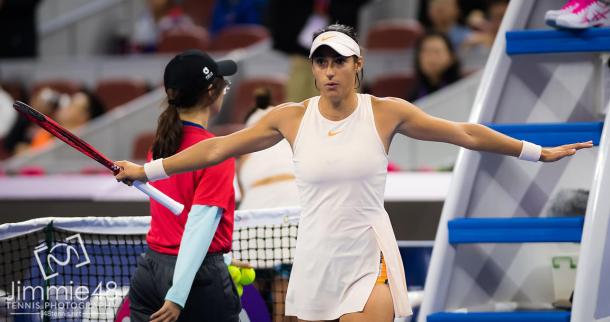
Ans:
[[[508,55],[610,51],[610,28],[506,32]]]

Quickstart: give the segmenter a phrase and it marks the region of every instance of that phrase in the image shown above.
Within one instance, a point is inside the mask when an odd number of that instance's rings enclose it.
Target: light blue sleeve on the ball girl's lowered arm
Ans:
[[[193,205],[191,208],[180,241],[172,287],[165,295],[166,300],[184,308],[195,275],[210,248],[221,217],[222,209],[218,207]]]

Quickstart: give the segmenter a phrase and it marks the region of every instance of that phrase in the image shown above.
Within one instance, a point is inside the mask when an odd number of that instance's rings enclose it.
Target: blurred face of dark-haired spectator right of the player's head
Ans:
[[[424,75],[440,77],[453,64],[453,57],[445,41],[440,37],[429,37],[422,42],[419,65]]]

